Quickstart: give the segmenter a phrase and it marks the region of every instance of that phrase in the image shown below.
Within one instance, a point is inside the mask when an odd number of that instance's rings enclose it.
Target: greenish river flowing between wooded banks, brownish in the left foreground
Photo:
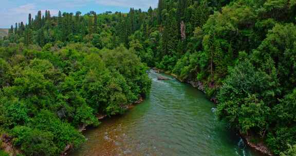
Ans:
[[[88,128],[84,132],[88,140],[71,156],[261,155],[215,118],[215,105],[204,93],[169,75],[153,71],[149,75],[152,89],[145,101]],[[158,81],[159,75],[170,80]]]

